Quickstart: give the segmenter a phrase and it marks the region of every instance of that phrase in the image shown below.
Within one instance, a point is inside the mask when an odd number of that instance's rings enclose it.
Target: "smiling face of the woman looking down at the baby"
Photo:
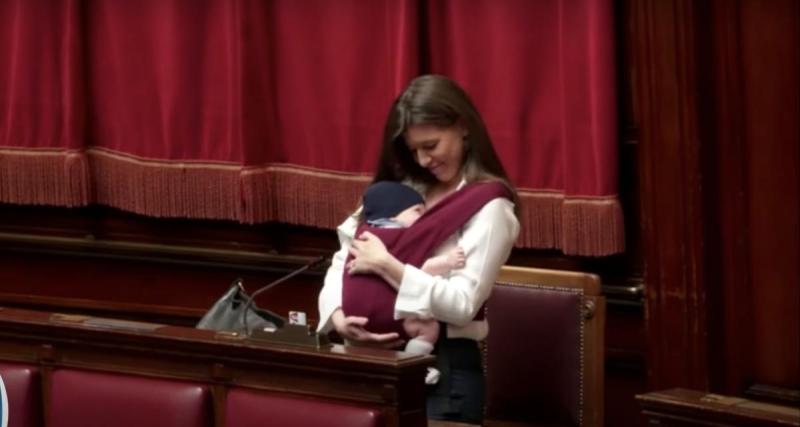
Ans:
[[[443,184],[457,184],[464,164],[466,131],[458,125],[414,125],[403,134],[411,155]]]

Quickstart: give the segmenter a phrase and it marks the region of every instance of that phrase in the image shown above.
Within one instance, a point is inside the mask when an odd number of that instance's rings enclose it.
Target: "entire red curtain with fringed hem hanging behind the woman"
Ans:
[[[0,202],[334,227],[414,76],[473,96],[519,245],[623,249],[610,0],[0,0]]]

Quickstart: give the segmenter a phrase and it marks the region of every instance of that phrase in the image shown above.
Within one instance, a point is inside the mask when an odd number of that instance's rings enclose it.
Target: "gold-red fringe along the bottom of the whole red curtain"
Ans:
[[[333,229],[357,207],[370,178],[307,167],[148,161],[108,150],[0,149],[0,202],[90,203],[154,217],[279,221]],[[625,249],[616,197],[565,197],[520,189],[518,247],[605,256]]]

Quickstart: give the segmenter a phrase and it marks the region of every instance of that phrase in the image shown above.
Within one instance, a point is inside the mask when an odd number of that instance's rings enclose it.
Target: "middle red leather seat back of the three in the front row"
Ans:
[[[62,369],[53,372],[49,427],[206,427],[208,389],[199,384]]]

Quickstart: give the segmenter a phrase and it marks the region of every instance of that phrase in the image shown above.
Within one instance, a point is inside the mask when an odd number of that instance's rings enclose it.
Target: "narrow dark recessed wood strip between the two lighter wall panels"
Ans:
[[[714,1],[713,24],[706,49],[713,52],[708,64],[707,81],[716,96],[707,105],[704,119],[714,126],[706,128],[706,183],[709,191],[706,209],[714,212],[716,227],[709,227],[705,258],[709,271],[709,295],[716,304],[709,307],[710,335],[714,361],[710,372],[712,388],[725,393],[740,393],[747,386],[746,372],[753,360],[753,324],[736,322],[738,336],[724,332],[728,322],[751,319],[747,227],[749,193],[745,103],[742,91],[740,13],[738,2]],[[724,146],[725,149],[720,149]],[[736,378],[734,380],[734,378]]]

